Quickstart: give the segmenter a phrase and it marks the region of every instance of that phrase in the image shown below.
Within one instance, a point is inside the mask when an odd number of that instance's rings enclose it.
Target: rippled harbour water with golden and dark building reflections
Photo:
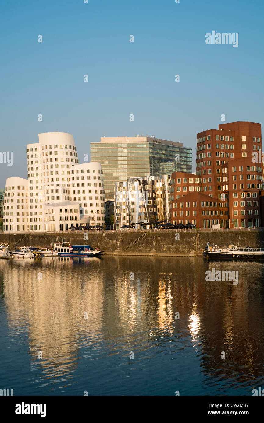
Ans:
[[[226,266],[238,285],[205,281]],[[263,375],[263,274],[261,263],[195,258],[2,260],[3,362],[8,343],[22,343],[33,394],[70,395],[89,381],[101,395],[131,395],[133,381],[134,394],[170,395],[176,379],[183,395],[245,395]]]

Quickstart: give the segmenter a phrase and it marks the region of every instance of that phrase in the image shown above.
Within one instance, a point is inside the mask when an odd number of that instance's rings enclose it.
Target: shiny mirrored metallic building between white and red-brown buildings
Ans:
[[[170,175],[116,182],[114,227],[169,220]],[[148,225],[146,225],[149,228]]]

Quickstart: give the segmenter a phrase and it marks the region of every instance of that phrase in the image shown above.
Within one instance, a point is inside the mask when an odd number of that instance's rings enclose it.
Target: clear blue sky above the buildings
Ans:
[[[80,162],[90,142],[136,134],[181,140],[195,162],[222,114],[263,123],[263,0],[2,0],[0,16],[0,151],[14,151],[0,187],[27,177],[41,132],[72,134]],[[206,44],[212,31],[239,46]]]

